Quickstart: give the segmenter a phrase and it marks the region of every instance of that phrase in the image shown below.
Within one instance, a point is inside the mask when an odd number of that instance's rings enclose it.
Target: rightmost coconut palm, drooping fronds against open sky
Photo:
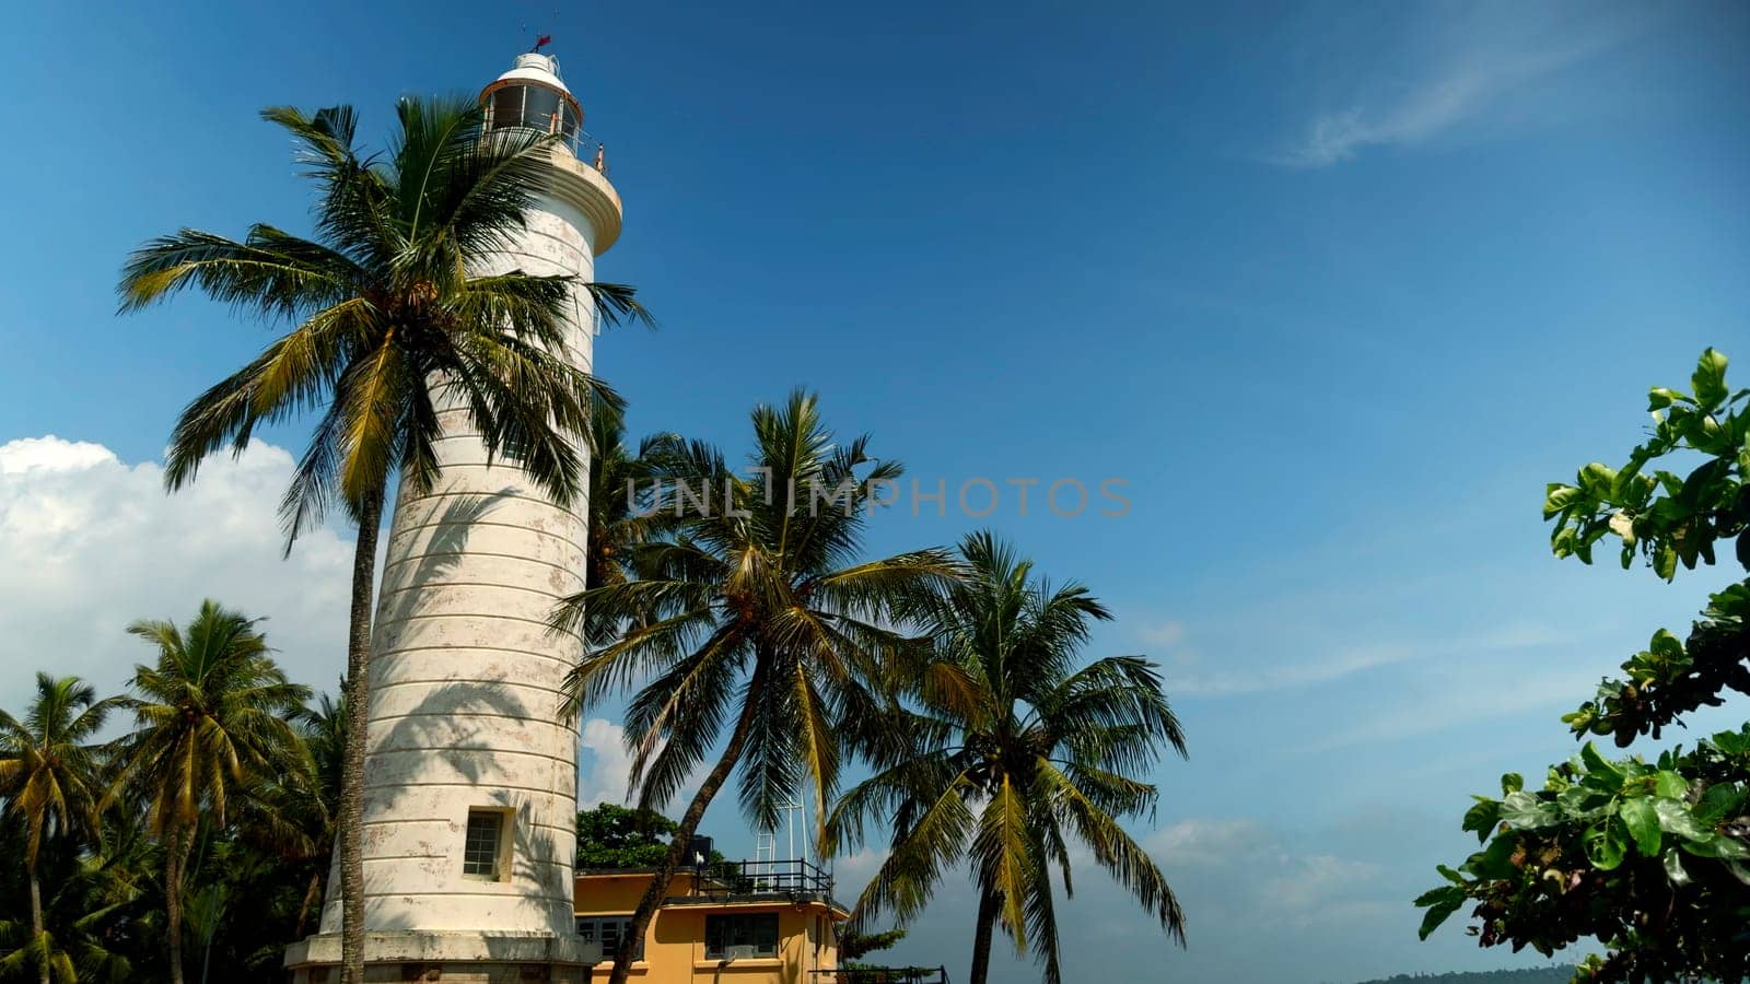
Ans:
[[[845,791],[828,846],[856,847],[892,818],[891,854],[858,900],[864,923],[915,919],[943,874],[970,863],[978,888],[971,984],[990,966],[992,928],[1060,980],[1052,868],[1071,888],[1080,840],[1180,944],[1185,914],[1166,875],[1120,826],[1152,818],[1138,779],[1185,734],[1155,665],[1108,657],[1082,665],[1094,622],[1111,615],[1082,585],[1052,590],[989,532],[961,545],[971,576],[914,594],[896,615],[928,636],[915,709],[863,716],[852,735],[875,774]]]

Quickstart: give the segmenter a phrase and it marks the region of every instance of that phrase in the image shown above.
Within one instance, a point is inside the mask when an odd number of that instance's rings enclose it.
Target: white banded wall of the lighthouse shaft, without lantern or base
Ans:
[[[542,200],[480,273],[593,280],[595,229]],[[572,301],[570,359],[588,369],[593,312]],[[366,931],[572,937],[578,730],[560,685],[583,653],[546,620],[583,588],[586,503],[542,496],[514,462],[486,464],[462,410],[441,415],[441,480],[402,488],[387,541],[371,657],[364,790]],[[584,448],[579,448],[586,453]],[[462,874],[472,807],[511,812],[500,881]],[[340,931],[331,893],[322,931]]]

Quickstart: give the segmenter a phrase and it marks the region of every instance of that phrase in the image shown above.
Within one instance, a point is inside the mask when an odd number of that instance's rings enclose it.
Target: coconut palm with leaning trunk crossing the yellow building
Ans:
[[[632,548],[632,580],[586,588],[555,616],[565,629],[586,611],[628,625],[592,643],[567,697],[572,709],[590,707],[644,683],[626,709],[640,809],[660,811],[723,741],[632,916],[632,938],[644,935],[732,772],[758,826],[774,826],[777,807],[803,786],[828,800],[836,721],[873,706],[870,685],[903,644],[884,623],[889,602],[956,573],[943,550],[858,560],[872,481],[892,481],[901,467],[872,459],[868,438],[835,445],[812,394],[756,408],[752,425],[749,464],[765,478],[732,471],[707,445],[672,441],[660,464],[667,490],[654,499],[681,504],[677,527]],[[840,497],[819,504],[816,488]],[[632,952],[614,958],[612,984],[625,984]]]

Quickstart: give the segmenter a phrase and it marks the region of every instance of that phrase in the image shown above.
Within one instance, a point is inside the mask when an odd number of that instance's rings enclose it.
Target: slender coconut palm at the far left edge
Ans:
[[[60,679],[37,672],[37,697],[19,721],[0,711],[0,798],[5,811],[23,821],[24,874],[30,879],[30,949],[37,979],[49,984],[51,954],[42,919],[42,882],[37,858],[44,837],[96,828],[102,798],[100,758],[91,737],[116,699],[98,700],[98,692],[77,676]],[[70,965],[68,965],[70,966]]]

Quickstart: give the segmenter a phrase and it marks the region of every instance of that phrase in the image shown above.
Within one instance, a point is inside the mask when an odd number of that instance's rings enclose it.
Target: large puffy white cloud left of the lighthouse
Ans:
[[[350,545],[315,531],[282,559],[275,508],[292,455],[252,445],[168,496],[154,462],[56,436],[0,445],[0,706],[19,709],[37,669],[116,693],[150,658],[124,627],[194,615],[214,597],[264,616],[287,672],[332,690],[345,664]]]

